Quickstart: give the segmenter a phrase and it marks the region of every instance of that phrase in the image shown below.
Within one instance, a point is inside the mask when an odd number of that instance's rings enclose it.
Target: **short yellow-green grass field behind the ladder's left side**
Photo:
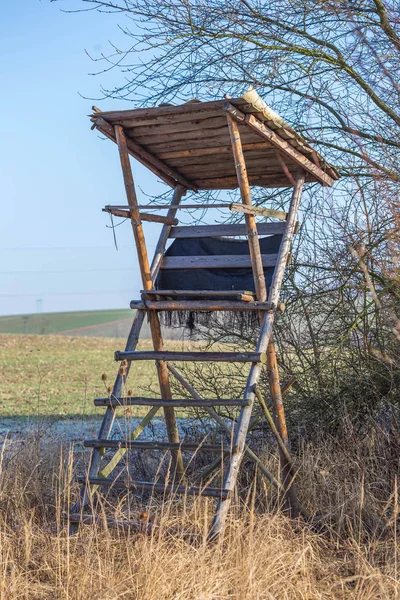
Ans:
[[[117,372],[114,351],[123,347],[121,339],[0,334],[0,414],[103,414],[93,398],[108,395]],[[178,342],[166,347],[181,348]],[[151,342],[143,340],[139,348],[150,350]],[[151,395],[149,386],[157,385],[154,364],[134,363],[129,385],[135,395]]]

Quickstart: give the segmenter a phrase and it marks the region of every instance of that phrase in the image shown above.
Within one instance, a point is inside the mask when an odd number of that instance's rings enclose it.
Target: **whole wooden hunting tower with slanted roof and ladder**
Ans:
[[[117,144],[125,184],[127,205],[107,206],[104,210],[131,221],[142,277],[141,299],[132,301],[136,316],[125,350],[115,353],[120,363],[112,392],[96,398],[105,414],[98,439],[85,441],[92,448],[89,472],[81,477],[81,494],[69,515],[70,529],[94,523],[99,517],[92,506],[92,495],[99,487],[148,491],[162,494],[204,495],[216,498],[215,517],[210,538],[221,533],[244,455],[255,461],[259,472],[282,492],[287,509],[296,516],[301,507],[293,485],[293,462],[285,424],[282,389],[272,343],[273,324],[281,309],[280,290],[297,228],[297,213],[302,190],[307,182],[331,186],[338,174],[300,135],[272,111],[251,90],[242,98],[213,102],[193,101],[180,106],[159,106],[135,110],[101,112],[91,116],[93,128]],[[130,156],[145,165],[172,188],[170,204],[140,206],[137,200]],[[254,206],[251,186],[291,187],[288,212]],[[240,190],[241,203],[181,202],[188,190]],[[190,208],[219,208],[243,218],[235,224],[182,226],[179,215]],[[146,212],[151,210],[151,212]],[[166,211],[166,214],[163,213]],[[160,214],[161,213],[161,214]],[[186,213],[185,213],[186,214]],[[189,213],[191,214],[191,213]],[[186,217],[187,218],[187,217]],[[143,222],[160,223],[161,231],[150,262]],[[169,243],[172,240],[172,243]],[[169,245],[168,245],[169,244]],[[253,351],[243,352],[169,352],[164,349],[160,316],[163,311],[189,313],[253,314],[259,319],[258,341]],[[150,324],[152,351],[137,350],[144,319]],[[160,393],[157,398],[125,395],[126,379],[133,361],[155,361]],[[242,398],[203,398],[179,371],[179,361],[240,362],[248,364],[247,384]],[[257,387],[266,368],[270,399]],[[173,377],[188,397],[173,398]],[[134,387],[134,382],[130,384]],[[249,432],[259,421],[254,405],[261,407],[277,441],[281,477],[275,477],[247,444]],[[217,406],[236,407],[236,416],[226,420]],[[146,416],[128,439],[110,439],[114,419],[127,406],[148,407]],[[224,444],[201,442],[201,451],[219,455],[210,464],[226,461],[219,486],[188,481],[185,458],[198,445],[181,441],[175,409],[201,407],[210,421],[217,422],[226,434]],[[272,407],[272,414],[270,408]],[[140,441],[137,438],[151,419],[163,410],[168,441]],[[171,453],[171,476],[165,481],[138,481],[118,471],[126,453],[160,450]],[[107,452],[107,459],[104,454]],[[110,458],[110,453],[114,453]],[[221,453],[223,455],[221,455]],[[218,462],[219,461],[219,462]],[[210,471],[209,471],[210,472]],[[109,519],[110,525],[151,529],[135,520]]]

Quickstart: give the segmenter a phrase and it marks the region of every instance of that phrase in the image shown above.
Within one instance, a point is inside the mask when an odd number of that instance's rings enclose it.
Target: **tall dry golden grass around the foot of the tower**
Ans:
[[[96,525],[69,538],[63,513],[76,497],[71,452],[36,439],[11,444],[1,457],[0,598],[397,598],[396,450],[378,430],[364,440],[300,448],[297,485],[313,525],[271,510],[276,499],[249,473],[225,535],[207,545],[213,501],[205,498],[132,501],[133,516],[146,511],[154,522],[150,535]],[[97,509],[119,517],[127,507],[120,497]],[[196,541],[180,533],[189,527]]]

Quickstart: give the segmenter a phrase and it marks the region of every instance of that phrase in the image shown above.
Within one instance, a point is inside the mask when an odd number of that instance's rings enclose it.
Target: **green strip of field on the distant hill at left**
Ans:
[[[133,311],[87,310],[63,313],[42,313],[0,317],[0,333],[49,334],[69,329],[101,325],[120,319],[132,319]]]

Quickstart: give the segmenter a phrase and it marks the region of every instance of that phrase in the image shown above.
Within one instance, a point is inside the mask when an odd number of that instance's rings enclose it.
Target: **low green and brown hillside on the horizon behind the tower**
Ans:
[[[135,311],[130,309],[13,315],[0,317],[0,334],[56,334],[126,339],[134,316]],[[150,338],[150,330],[146,321],[143,323],[141,337],[143,339]],[[179,337],[180,334],[177,330],[166,329],[164,331],[165,339],[178,339]]]

